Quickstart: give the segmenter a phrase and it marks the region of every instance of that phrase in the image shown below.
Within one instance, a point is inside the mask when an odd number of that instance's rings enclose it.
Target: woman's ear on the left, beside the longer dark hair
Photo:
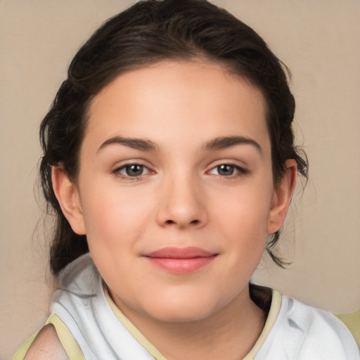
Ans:
[[[86,233],[84,215],[77,187],[60,167],[52,167],[51,179],[53,191],[72,230],[78,235],[84,235]]]

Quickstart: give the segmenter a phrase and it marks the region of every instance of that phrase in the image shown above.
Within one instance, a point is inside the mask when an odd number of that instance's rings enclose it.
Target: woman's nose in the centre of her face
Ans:
[[[187,179],[182,176],[182,179],[168,179],[166,184],[162,184],[157,213],[160,226],[186,229],[207,224],[205,194],[198,183],[191,176]]]

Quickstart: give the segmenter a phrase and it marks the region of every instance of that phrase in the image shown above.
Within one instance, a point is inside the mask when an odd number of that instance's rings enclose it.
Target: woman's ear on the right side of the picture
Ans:
[[[267,220],[267,233],[275,233],[285,221],[291,197],[296,185],[297,164],[294,159],[286,161],[286,170],[274,189],[274,200]]]

